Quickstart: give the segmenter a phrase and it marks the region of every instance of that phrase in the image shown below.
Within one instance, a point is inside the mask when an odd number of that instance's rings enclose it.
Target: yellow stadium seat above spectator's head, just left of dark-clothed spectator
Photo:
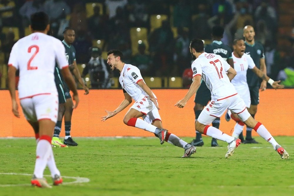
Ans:
[[[138,42],[141,41],[145,44],[146,51],[148,51],[147,33],[147,28],[143,27],[133,27],[130,29],[132,55],[138,53]]]

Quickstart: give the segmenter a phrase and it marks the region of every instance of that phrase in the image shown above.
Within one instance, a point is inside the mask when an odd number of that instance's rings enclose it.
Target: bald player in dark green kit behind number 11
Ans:
[[[247,25],[243,29],[243,36],[245,37],[245,53],[250,55],[253,59],[255,66],[259,68],[266,75],[266,65],[263,46],[254,41],[255,32],[252,26]],[[266,81],[260,80],[253,70],[247,71],[247,83],[250,91],[251,104],[249,108],[250,115],[254,118],[257,112],[257,105],[259,104],[259,88],[261,91],[266,89]],[[240,134],[240,138],[243,138],[243,134]],[[244,143],[258,143],[252,138],[252,128],[246,128],[246,138]]]

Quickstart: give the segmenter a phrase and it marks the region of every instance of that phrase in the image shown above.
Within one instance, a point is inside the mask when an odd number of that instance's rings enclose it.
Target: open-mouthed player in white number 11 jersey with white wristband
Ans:
[[[245,42],[243,39],[235,39],[233,42],[234,51],[232,53],[234,60],[234,69],[237,76],[233,78],[231,83],[234,85],[240,97],[244,100],[247,109],[250,108],[250,93],[247,83],[247,70],[251,69],[258,77],[262,78],[263,72],[255,66],[253,59],[250,55],[245,53]],[[277,81],[280,82],[280,81]],[[274,88],[283,88],[283,85],[276,84]],[[229,110],[228,110],[229,111]],[[237,117],[237,115],[230,115],[236,121],[232,136],[238,138],[243,131],[244,123]]]

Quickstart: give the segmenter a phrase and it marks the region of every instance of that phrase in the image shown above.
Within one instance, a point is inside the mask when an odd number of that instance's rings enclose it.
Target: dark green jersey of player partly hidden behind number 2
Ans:
[[[66,60],[70,65],[70,64],[74,63],[74,61],[76,61],[76,49],[74,48],[73,45],[69,46],[64,40],[62,41],[62,43],[65,48]],[[60,69],[59,69],[57,63],[55,64],[54,76],[55,76],[55,84],[56,85],[64,83],[63,77],[60,73]]]

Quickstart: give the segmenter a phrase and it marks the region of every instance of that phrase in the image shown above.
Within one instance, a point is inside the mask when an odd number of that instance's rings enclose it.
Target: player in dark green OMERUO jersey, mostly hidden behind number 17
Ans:
[[[231,67],[233,66],[232,60],[232,50],[229,46],[225,45],[221,39],[223,38],[224,29],[222,26],[214,26],[212,28],[212,38],[213,42],[209,45],[206,45],[204,51],[206,53],[215,53],[223,57],[225,61],[229,63]],[[195,96],[195,106],[194,106],[194,113],[195,113],[195,121],[197,121],[199,114],[203,110],[204,106],[211,100],[211,93],[209,89],[206,87],[205,82],[201,82],[201,85],[197,91]],[[220,118],[216,118],[212,121],[212,126],[215,128],[219,128],[220,126]],[[194,146],[202,146],[204,145],[201,133],[196,131],[196,138],[191,142]],[[215,138],[211,140],[211,146],[215,147],[218,146],[218,143]]]

